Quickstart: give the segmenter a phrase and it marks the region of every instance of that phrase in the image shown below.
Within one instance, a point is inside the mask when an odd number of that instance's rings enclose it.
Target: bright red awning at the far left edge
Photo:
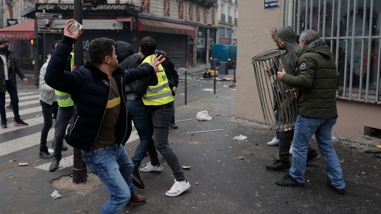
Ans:
[[[34,20],[0,29],[0,38],[8,40],[29,40],[34,37]]]

